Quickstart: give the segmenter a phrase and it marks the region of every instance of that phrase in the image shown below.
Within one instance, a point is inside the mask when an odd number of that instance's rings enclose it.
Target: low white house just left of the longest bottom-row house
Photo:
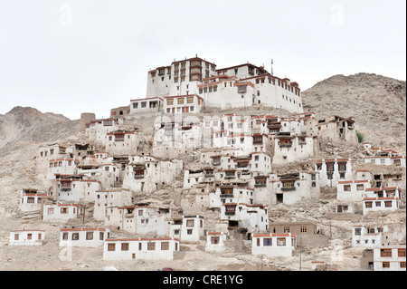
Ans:
[[[109,238],[109,228],[74,227],[62,228],[60,246],[99,247]]]

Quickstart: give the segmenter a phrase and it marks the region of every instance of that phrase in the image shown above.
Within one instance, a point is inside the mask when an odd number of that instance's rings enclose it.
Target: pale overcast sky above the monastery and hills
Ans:
[[[252,63],[307,90],[335,74],[406,79],[405,0],[0,0],[0,114],[97,118],[185,57]]]

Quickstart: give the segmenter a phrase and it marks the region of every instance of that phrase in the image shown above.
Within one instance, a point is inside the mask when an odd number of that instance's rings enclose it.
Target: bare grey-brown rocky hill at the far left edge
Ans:
[[[0,114],[0,156],[15,149],[66,139],[78,132],[79,120],[61,114],[43,113],[31,107],[14,107]]]

